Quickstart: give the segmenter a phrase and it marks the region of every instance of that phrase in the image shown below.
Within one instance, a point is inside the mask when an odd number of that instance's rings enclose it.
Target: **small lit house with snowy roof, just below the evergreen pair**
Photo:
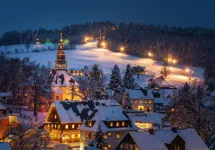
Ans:
[[[124,103],[126,94],[132,103],[132,108],[138,111],[153,111],[154,110],[154,97],[150,90],[146,89],[126,89],[122,96],[122,103]]]

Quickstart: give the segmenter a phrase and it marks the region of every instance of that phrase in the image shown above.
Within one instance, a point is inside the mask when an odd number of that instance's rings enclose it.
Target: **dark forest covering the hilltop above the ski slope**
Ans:
[[[10,31],[0,38],[0,45],[30,44],[39,38],[41,42],[57,43],[59,32],[64,33],[71,44],[84,42],[86,35],[105,40],[107,48],[129,55],[147,57],[150,51],[154,59],[164,61],[169,55],[186,66],[205,67],[205,78],[215,77],[215,30],[201,27],[168,27],[110,21],[73,24],[61,29]]]

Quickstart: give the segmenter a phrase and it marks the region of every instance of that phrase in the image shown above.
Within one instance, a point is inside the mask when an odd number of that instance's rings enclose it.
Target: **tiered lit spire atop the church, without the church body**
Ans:
[[[63,33],[60,33],[60,41],[57,52],[57,60],[55,61],[55,69],[67,70],[66,53],[63,46]]]

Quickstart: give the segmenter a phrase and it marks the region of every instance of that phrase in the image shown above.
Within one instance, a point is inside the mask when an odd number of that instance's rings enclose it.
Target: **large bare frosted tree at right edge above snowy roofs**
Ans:
[[[205,142],[215,131],[215,112],[206,107],[206,86],[199,81],[185,83],[172,99],[167,109],[168,119],[175,127],[194,128]]]

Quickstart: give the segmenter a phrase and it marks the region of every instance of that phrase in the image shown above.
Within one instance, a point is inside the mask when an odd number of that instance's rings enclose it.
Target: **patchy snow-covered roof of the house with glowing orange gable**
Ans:
[[[83,122],[86,120],[98,106],[117,107],[120,106],[114,100],[83,100],[83,101],[55,101],[52,103],[58,112],[61,122]]]

